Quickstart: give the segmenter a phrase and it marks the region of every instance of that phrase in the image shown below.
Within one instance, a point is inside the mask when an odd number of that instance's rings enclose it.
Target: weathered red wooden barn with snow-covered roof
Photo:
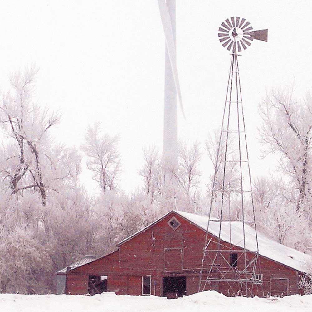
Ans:
[[[82,295],[114,291],[119,295],[156,296],[196,293],[207,222],[207,216],[171,211],[119,242],[116,251],[97,259],[86,257],[58,271],[57,292]],[[222,244],[229,251],[242,247],[242,238],[235,227],[231,227],[232,237],[222,237]],[[255,249],[248,241],[248,226],[245,227],[246,249],[252,253]],[[208,236],[211,244],[217,243],[217,228],[210,224]],[[271,241],[261,233],[258,244],[261,272],[253,277],[254,295],[301,293],[298,281],[308,271],[310,256]],[[237,270],[242,268],[243,263],[238,261]],[[208,290],[212,286],[206,287]],[[218,283],[216,290],[233,295],[223,289],[222,283]]]

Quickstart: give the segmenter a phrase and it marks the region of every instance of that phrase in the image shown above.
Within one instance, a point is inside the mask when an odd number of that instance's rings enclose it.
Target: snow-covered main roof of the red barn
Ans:
[[[185,220],[193,223],[194,225],[201,228],[202,230],[204,231],[207,230],[207,225],[208,225],[207,216],[200,216],[200,215],[196,215],[193,213],[175,211],[175,210],[171,212],[175,212],[180,217],[183,217]],[[165,214],[163,217],[149,224],[147,227],[144,227],[142,230],[127,237],[123,241],[120,241],[117,244],[117,246],[120,246],[121,244],[130,240],[134,236],[137,236],[139,233],[144,232],[149,227],[161,221],[169,213]],[[215,236],[219,236],[219,229],[220,229],[220,222],[209,222],[209,232],[211,234]],[[244,248],[242,223],[231,222],[230,224],[227,222],[223,222],[221,229],[222,230],[221,230],[220,237],[223,241],[226,241],[233,245]],[[257,237],[258,237],[259,254],[261,256],[270,258],[274,261],[282,263],[300,272],[309,272],[309,268],[311,267],[311,264],[312,264],[311,256],[303,252],[300,252],[298,250],[295,250],[293,248],[282,245],[276,241],[272,241],[270,238],[268,238],[267,236],[265,236],[259,231],[257,231]],[[257,250],[255,230],[252,227],[248,226],[247,224],[245,224],[245,244],[246,244],[247,250],[250,250],[250,251]]]

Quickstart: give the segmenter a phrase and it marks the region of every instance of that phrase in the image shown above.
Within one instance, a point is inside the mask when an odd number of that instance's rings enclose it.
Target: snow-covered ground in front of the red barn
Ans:
[[[201,312],[201,311],[312,311],[312,295],[292,295],[284,298],[228,298],[215,291],[194,294],[184,298],[117,296],[104,293],[93,297],[71,295],[17,295],[0,294],[1,312]]]

